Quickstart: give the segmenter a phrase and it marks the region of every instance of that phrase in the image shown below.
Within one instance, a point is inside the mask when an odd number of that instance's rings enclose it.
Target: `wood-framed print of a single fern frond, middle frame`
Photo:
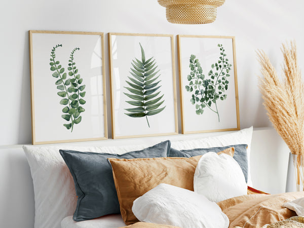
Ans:
[[[108,33],[113,139],[178,134],[173,40]]]

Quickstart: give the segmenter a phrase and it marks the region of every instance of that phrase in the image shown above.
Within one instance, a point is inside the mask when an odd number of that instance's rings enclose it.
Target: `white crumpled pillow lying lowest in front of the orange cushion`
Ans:
[[[183,228],[229,226],[228,217],[216,203],[203,195],[165,183],[134,200],[132,211],[144,222]]]

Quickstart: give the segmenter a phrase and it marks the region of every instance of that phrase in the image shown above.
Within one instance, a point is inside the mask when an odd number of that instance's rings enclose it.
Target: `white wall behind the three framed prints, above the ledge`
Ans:
[[[270,126],[257,88],[259,66],[255,50],[265,50],[279,70],[281,42],[295,39],[298,53],[304,53],[303,8],[304,1],[299,0],[229,0],[218,8],[212,24],[177,25],[166,21],[165,8],[157,0],[2,1],[0,145],[31,142],[27,33],[30,29],[235,35],[241,128]],[[303,56],[299,55],[302,68]],[[108,85],[107,59],[106,81]],[[107,95],[109,104],[109,89]],[[108,117],[110,136],[109,108]]]

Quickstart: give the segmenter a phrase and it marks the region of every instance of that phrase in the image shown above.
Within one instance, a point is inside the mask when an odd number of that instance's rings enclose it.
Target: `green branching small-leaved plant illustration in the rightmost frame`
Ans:
[[[220,57],[217,62],[211,65],[212,69],[208,72],[208,77],[203,74],[199,59],[195,55],[191,55],[189,64],[191,72],[187,75],[189,84],[185,86],[185,89],[188,92],[194,92],[190,101],[196,105],[197,115],[202,115],[204,108],[208,107],[216,113],[218,122],[220,122],[217,100],[227,98],[224,93],[228,89],[229,81],[227,77],[230,77],[229,71],[232,64],[228,62],[223,46],[221,44],[217,46],[220,50]]]

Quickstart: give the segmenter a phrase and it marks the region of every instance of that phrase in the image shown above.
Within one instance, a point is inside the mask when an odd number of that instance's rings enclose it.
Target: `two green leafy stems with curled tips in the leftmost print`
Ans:
[[[63,115],[61,117],[67,121],[67,124],[63,124],[66,129],[71,129],[73,131],[74,124],[79,124],[82,120],[81,113],[85,111],[82,106],[86,103],[83,99],[86,95],[84,91],[86,85],[83,85],[83,79],[79,73],[79,70],[74,62],[75,51],[80,50],[79,48],[74,48],[69,56],[67,72],[65,68],[60,65],[60,61],[56,60],[55,51],[57,48],[62,47],[62,45],[56,45],[51,51],[50,58],[50,70],[53,71],[52,76],[57,80],[55,85],[59,92],[58,96],[61,97],[60,104],[64,105],[62,108]]]

